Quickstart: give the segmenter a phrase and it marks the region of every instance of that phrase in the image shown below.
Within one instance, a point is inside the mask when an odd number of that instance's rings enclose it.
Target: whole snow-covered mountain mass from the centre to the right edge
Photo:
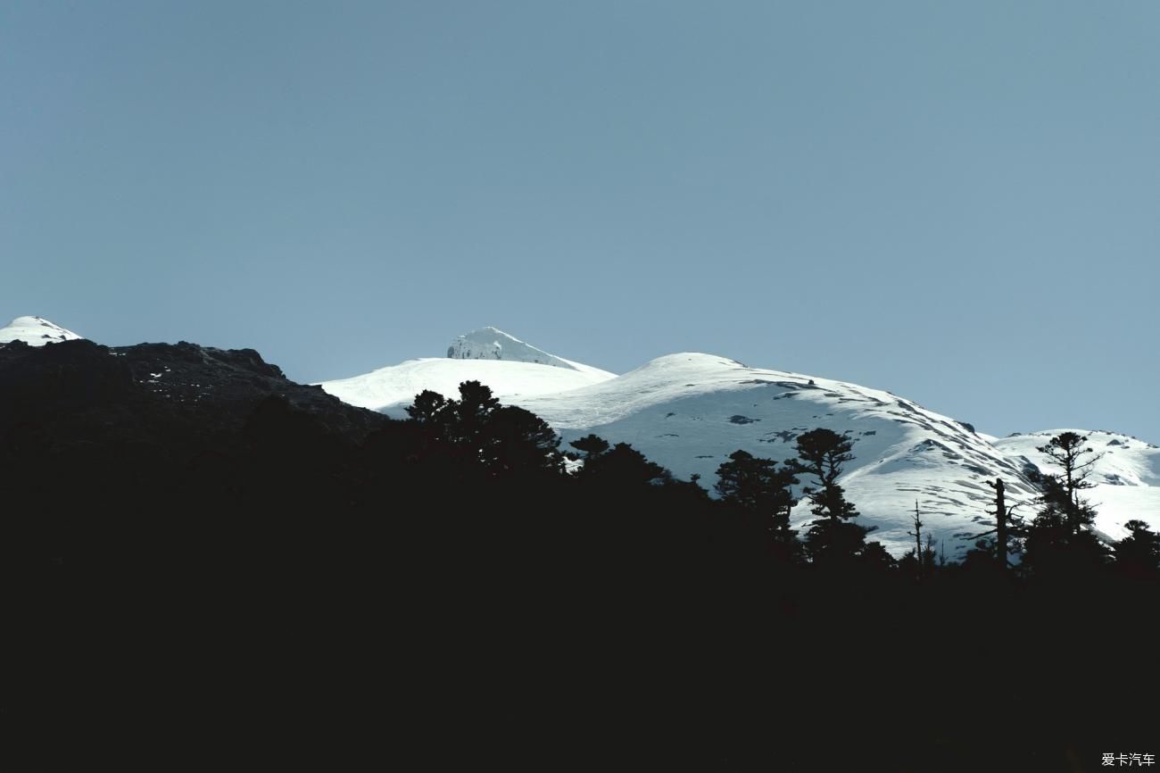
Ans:
[[[914,544],[907,530],[918,501],[925,529],[948,557],[960,557],[974,535],[994,526],[987,482],[1002,478],[1009,503],[1030,503],[1027,470],[1043,464],[1034,448],[1058,434],[998,440],[891,392],[711,354],[672,354],[615,376],[494,328],[461,337],[449,354],[485,359],[409,360],[321,385],[347,403],[405,418],[423,389],[454,397],[459,382],[477,380],[502,402],[544,418],[565,443],[588,433],[628,442],[679,477],[699,475],[710,487],[734,450],[785,460],[796,455],[799,434],[827,427],[854,440],[855,458],[841,483],[860,522],[877,527],[871,539],[894,555]],[[572,367],[552,367],[549,359]],[[1160,527],[1160,449],[1123,435],[1104,442],[1111,440],[1121,446],[1110,446],[1114,458],[1101,460],[1103,483],[1093,492],[1103,503],[1099,527],[1112,539],[1131,518]],[[809,507],[798,505],[796,525],[812,520]]]

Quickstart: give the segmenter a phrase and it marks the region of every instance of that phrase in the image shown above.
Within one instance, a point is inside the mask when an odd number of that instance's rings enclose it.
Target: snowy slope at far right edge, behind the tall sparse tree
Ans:
[[[1083,492],[1096,510],[1096,529],[1112,540],[1124,537],[1124,523],[1139,519],[1153,530],[1160,530],[1160,447],[1130,435],[1090,429],[1047,429],[1014,434],[993,441],[995,448],[1018,465],[1035,465],[1042,472],[1056,475],[1059,465],[1051,462],[1039,446],[1063,432],[1074,432],[1088,439],[1087,446],[1103,456],[1092,467],[1089,481],[1094,489]],[[1092,458],[1090,455],[1085,458]]]

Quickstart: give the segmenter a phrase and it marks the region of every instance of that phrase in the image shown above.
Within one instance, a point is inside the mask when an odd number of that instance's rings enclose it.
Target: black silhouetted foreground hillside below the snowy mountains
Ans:
[[[573,476],[527,412],[426,409],[390,421],[251,351],[0,347],[5,723],[49,767],[1160,753],[1147,571],[819,566],[631,449]]]

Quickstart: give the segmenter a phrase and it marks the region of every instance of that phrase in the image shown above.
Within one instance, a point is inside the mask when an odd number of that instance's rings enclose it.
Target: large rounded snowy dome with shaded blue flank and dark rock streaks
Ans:
[[[894,555],[913,546],[906,532],[915,500],[947,555],[960,556],[972,547],[964,537],[993,525],[988,479],[1002,477],[1013,494],[1031,494],[1022,469],[967,425],[890,392],[710,354],[659,357],[615,380],[519,404],[565,441],[593,432],[629,442],[674,475],[701,475],[708,486],[739,448],[785,460],[803,432],[846,433],[855,458],[841,483],[860,522],[878,527],[871,539]],[[812,520],[809,503],[793,520]]]

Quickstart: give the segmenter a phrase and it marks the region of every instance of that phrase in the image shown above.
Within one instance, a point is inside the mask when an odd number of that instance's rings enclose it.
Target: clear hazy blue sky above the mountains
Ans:
[[[1160,442],[1160,3],[0,3],[0,320],[297,381],[493,325]]]

